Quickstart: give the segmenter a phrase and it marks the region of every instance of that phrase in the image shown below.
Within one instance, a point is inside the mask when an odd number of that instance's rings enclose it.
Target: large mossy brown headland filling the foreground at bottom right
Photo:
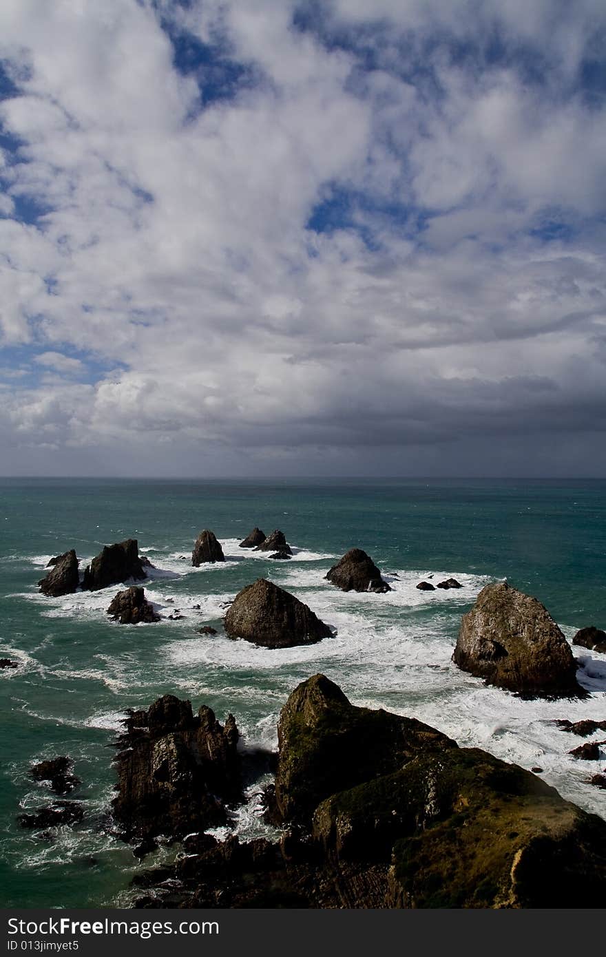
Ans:
[[[281,711],[280,844],[190,835],[140,907],[601,907],[606,822],[322,675]]]

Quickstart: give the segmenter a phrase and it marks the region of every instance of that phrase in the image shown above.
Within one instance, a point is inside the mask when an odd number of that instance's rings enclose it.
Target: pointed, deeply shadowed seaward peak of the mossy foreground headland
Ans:
[[[335,791],[390,774],[420,750],[456,747],[414,718],[354,706],[325,675],[293,691],[281,710],[278,742],[276,817],[299,823],[309,823]]]

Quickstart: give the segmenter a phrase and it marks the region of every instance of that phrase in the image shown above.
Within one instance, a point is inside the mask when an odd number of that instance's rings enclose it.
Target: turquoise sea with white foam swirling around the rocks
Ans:
[[[606,816],[587,783],[606,761],[574,761],[579,740],[555,718],[606,717],[606,656],[575,649],[587,701],[520,701],[462,674],[450,657],[460,615],[489,581],[538,597],[567,637],[606,628],[606,482],[527,480],[137,481],[0,480],[0,902],[5,906],[128,905],[140,869],[111,835],[114,771],[109,746],[126,707],[167,692],[234,712],[243,746],[276,745],[281,705],[299,681],[324,672],[355,703],[434,724],[462,746],[482,746],[523,767],[540,766],[567,798]],[[237,543],[254,525],[281,528],[295,552],[271,562]],[[191,568],[202,528],[221,541],[224,564]],[[133,537],[158,569],[146,594],[168,615],[121,626],[105,610],[118,590],[46,598],[36,587],[49,558],[75,547],[80,568],[102,545]],[[393,591],[343,593],[326,570],[351,546],[366,549]],[[463,588],[421,592],[429,575]],[[259,576],[303,599],[337,630],[306,648],[270,651],[221,634],[224,604]],[[194,606],[200,608],[195,609]],[[196,633],[201,625],[215,637]],[[578,654],[581,652],[581,654]],[[592,739],[589,739],[592,740]],[[52,841],[15,817],[52,799],[29,768],[69,754],[84,820]],[[236,833],[267,833],[258,789],[234,817]],[[146,866],[169,850],[146,858]]]

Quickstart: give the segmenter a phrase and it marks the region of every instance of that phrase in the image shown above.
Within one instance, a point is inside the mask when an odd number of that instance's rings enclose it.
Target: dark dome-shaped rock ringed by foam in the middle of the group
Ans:
[[[230,637],[265,648],[308,645],[332,634],[302,601],[265,578],[238,591],[224,623]]]

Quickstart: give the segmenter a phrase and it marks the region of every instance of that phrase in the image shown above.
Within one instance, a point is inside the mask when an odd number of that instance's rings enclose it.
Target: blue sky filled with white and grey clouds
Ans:
[[[2,0],[0,475],[606,476],[603,0]]]

